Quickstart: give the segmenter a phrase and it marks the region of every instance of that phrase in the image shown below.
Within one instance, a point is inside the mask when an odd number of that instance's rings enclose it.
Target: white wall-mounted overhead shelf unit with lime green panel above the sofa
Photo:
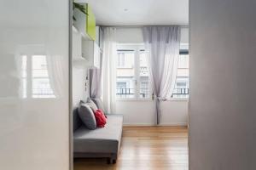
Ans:
[[[73,20],[73,66],[79,68],[99,66],[100,63],[100,50],[96,44],[95,16],[88,4],[84,4],[84,8],[86,14],[77,8],[73,9],[75,18]]]

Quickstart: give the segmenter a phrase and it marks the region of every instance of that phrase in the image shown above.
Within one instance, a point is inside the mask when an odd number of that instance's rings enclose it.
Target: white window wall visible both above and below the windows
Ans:
[[[119,43],[143,43],[142,28],[117,29],[117,41]],[[182,28],[181,42],[189,43],[189,29]],[[127,125],[154,125],[155,109],[153,101],[118,101],[117,112],[124,115],[124,123]],[[187,125],[188,101],[170,100],[162,103],[162,115],[160,125]]]

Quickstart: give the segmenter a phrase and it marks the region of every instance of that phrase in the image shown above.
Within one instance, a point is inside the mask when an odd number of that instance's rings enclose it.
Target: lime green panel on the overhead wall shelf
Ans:
[[[87,10],[86,32],[87,32],[87,35],[89,35],[92,40],[95,40],[96,39],[96,20],[88,3],[86,4],[86,10]]]

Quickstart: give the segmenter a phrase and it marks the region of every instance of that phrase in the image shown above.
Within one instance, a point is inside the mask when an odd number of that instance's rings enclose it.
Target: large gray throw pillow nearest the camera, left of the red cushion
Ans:
[[[93,130],[96,129],[96,119],[93,111],[90,109],[90,105],[84,104],[83,101],[79,103],[79,117],[84,125]]]

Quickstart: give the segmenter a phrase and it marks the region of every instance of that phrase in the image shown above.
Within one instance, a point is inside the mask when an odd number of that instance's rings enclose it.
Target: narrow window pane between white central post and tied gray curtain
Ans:
[[[148,61],[145,52],[140,52],[140,95],[139,98],[148,99],[150,97],[149,77],[148,77]]]

